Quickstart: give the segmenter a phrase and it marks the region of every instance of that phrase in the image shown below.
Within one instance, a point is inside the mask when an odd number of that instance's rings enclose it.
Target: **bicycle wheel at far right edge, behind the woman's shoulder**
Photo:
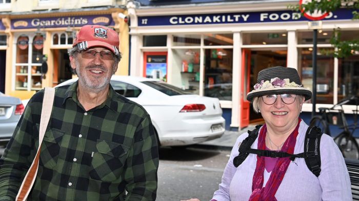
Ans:
[[[359,159],[359,146],[351,133],[342,132],[339,134],[336,144],[345,158]]]

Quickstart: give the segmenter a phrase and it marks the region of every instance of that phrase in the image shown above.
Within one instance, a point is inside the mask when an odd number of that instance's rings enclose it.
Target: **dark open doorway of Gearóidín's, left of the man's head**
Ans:
[[[70,58],[67,49],[54,49],[54,77],[53,86],[72,78]]]

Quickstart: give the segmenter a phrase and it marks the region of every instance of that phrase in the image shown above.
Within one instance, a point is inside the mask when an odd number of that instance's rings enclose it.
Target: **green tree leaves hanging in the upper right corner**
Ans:
[[[288,8],[300,11],[300,5],[288,5]],[[306,4],[302,4],[302,9],[309,13],[313,13],[315,10],[319,10],[322,13],[335,11],[339,8],[346,8],[353,10],[353,20],[359,19],[359,0],[331,0],[331,1],[312,1]],[[334,29],[333,35],[330,39],[330,43],[335,48],[333,52],[326,52],[327,54],[333,54],[334,57],[348,57],[359,51],[359,39],[352,39],[349,41],[341,40],[340,28]]]

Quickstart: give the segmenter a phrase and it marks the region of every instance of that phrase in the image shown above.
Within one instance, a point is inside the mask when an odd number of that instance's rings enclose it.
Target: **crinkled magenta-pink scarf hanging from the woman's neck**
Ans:
[[[283,144],[281,151],[287,152],[290,154],[294,153],[294,147],[296,142],[296,137],[298,135],[298,128],[301,123],[301,119],[298,120],[298,124],[293,130],[293,132],[289,135],[286,142]],[[258,148],[257,149],[266,149],[266,135],[267,135],[267,126],[263,125],[263,128],[258,137]],[[269,176],[268,182],[265,187],[263,187],[264,183],[264,169],[265,162],[264,156],[257,156],[257,164],[255,167],[253,181],[252,181],[252,194],[249,197],[249,201],[276,201],[275,193],[278,190],[279,185],[281,185],[284,174],[286,173],[288,166],[290,163],[289,157],[278,158],[272,173]]]

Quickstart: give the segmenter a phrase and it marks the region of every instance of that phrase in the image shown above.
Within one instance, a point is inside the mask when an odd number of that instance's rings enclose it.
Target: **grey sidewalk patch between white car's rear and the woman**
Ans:
[[[240,136],[242,133],[247,132],[248,130],[253,130],[255,128],[255,125],[249,125],[248,127],[238,130],[238,131],[228,131],[226,130],[225,133],[222,135],[222,137],[217,139],[212,139],[204,143],[200,143],[198,145],[201,146],[208,146],[208,147],[217,147],[220,149],[229,149],[231,150],[235,140],[238,136]]]

